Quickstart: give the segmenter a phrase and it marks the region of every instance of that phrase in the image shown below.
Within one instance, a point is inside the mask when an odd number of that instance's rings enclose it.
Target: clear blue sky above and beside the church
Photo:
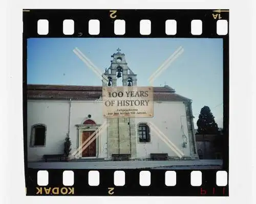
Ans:
[[[223,42],[208,38],[30,38],[28,84],[101,86],[99,77],[72,51],[75,47],[102,72],[119,47],[128,66],[137,74],[137,86],[150,86],[148,78],[175,50],[184,52],[154,81],[193,100],[197,119],[209,106],[223,127]]]

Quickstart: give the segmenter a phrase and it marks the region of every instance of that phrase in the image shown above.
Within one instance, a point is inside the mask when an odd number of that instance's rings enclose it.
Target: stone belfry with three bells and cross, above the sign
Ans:
[[[122,86],[137,86],[137,74],[127,66],[125,55],[120,51],[118,47],[117,53],[111,56],[113,59],[110,67],[102,74],[102,77],[108,79],[108,82],[102,81],[103,86],[117,86],[118,78],[122,78]]]

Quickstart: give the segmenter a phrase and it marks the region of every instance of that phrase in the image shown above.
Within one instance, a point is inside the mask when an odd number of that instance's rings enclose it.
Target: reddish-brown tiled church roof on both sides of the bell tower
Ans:
[[[101,97],[102,86],[66,86],[66,85],[28,85],[29,99],[98,99]],[[189,98],[175,93],[168,86],[154,87],[155,100],[185,101]]]

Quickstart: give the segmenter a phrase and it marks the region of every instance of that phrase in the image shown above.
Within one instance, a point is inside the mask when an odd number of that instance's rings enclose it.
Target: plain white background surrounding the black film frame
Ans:
[[[179,2],[179,3],[176,3]],[[252,68],[250,1],[8,1],[1,2],[1,203],[253,203],[255,156],[255,63]],[[22,9],[230,9],[230,197],[32,197],[25,196],[22,111]],[[255,8],[255,7],[254,7]],[[7,30],[7,33],[5,32]],[[7,40],[6,40],[7,39]],[[253,40],[255,42],[255,40]],[[255,44],[255,43],[254,43]],[[6,45],[6,46],[5,46]],[[253,58],[255,59],[255,52]],[[255,62],[255,60],[254,60]],[[6,66],[7,65],[7,66]],[[254,77],[253,77],[254,74]],[[255,92],[255,91],[254,91]],[[254,106],[252,106],[254,105]],[[253,139],[253,141],[251,141]],[[255,183],[255,176],[253,176]],[[74,200],[75,199],[75,200]],[[255,201],[254,201],[255,203]]]

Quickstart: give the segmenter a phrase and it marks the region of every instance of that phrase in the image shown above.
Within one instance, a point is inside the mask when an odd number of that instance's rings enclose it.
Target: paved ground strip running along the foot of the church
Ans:
[[[216,169],[222,160],[188,161],[90,161],[90,162],[30,162],[29,168],[46,169]]]

